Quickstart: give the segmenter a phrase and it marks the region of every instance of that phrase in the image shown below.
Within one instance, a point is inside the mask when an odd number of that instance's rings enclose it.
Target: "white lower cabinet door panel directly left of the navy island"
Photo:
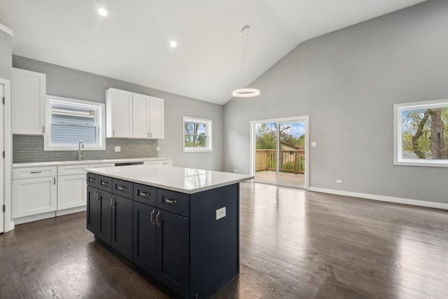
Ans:
[[[87,184],[85,174],[59,176],[57,182],[57,209],[70,209],[85,206]]]

